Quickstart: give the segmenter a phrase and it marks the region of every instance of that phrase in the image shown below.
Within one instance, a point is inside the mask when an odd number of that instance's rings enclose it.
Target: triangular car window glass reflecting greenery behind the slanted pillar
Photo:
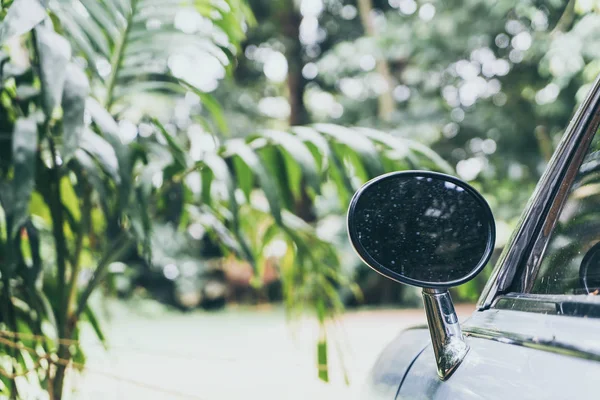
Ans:
[[[562,208],[532,293],[600,293],[600,135]]]

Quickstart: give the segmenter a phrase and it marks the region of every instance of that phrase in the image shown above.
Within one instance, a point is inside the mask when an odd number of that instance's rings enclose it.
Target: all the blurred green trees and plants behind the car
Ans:
[[[350,251],[354,190],[478,188],[496,254],[600,72],[596,0],[2,0],[0,393],[60,399],[101,299],[330,321],[418,292]],[[489,275],[455,289],[473,302]],[[73,373],[71,373],[71,372]],[[37,392],[36,392],[37,390]],[[42,396],[42,397],[36,397]]]

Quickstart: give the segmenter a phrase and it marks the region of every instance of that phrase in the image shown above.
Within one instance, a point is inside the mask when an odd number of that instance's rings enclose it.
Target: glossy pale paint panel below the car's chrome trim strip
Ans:
[[[430,347],[417,358],[396,399],[588,399],[598,389],[600,364],[468,337],[471,347],[447,381],[437,379]]]

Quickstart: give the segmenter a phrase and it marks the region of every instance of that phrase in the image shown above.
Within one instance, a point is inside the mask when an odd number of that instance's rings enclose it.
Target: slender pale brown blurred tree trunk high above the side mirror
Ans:
[[[375,30],[375,25],[373,24],[373,19],[371,18],[371,12],[373,11],[372,0],[358,0],[358,11],[365,34],[371,38],[375,38],[377,36],[377,32]],[[377,109],[377,114],[379,118],[383,119],[384,121],[389,121],[395,109],[395,102],[392,96],[394,78],[390,72],[390,66],[385,60],[385,57],[382,55],[377,57],[375,70],[379,75],[381,75],[387,85],[386,90],[378,97],[379,106]]]

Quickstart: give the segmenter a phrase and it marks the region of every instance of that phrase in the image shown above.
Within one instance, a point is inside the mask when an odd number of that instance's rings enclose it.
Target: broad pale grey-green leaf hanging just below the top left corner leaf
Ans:
[[[50,118],[54,108],[61,103],[71,46],[67,39],[51,28],[40,25],[35,28],[35,33],[44,111]]]

